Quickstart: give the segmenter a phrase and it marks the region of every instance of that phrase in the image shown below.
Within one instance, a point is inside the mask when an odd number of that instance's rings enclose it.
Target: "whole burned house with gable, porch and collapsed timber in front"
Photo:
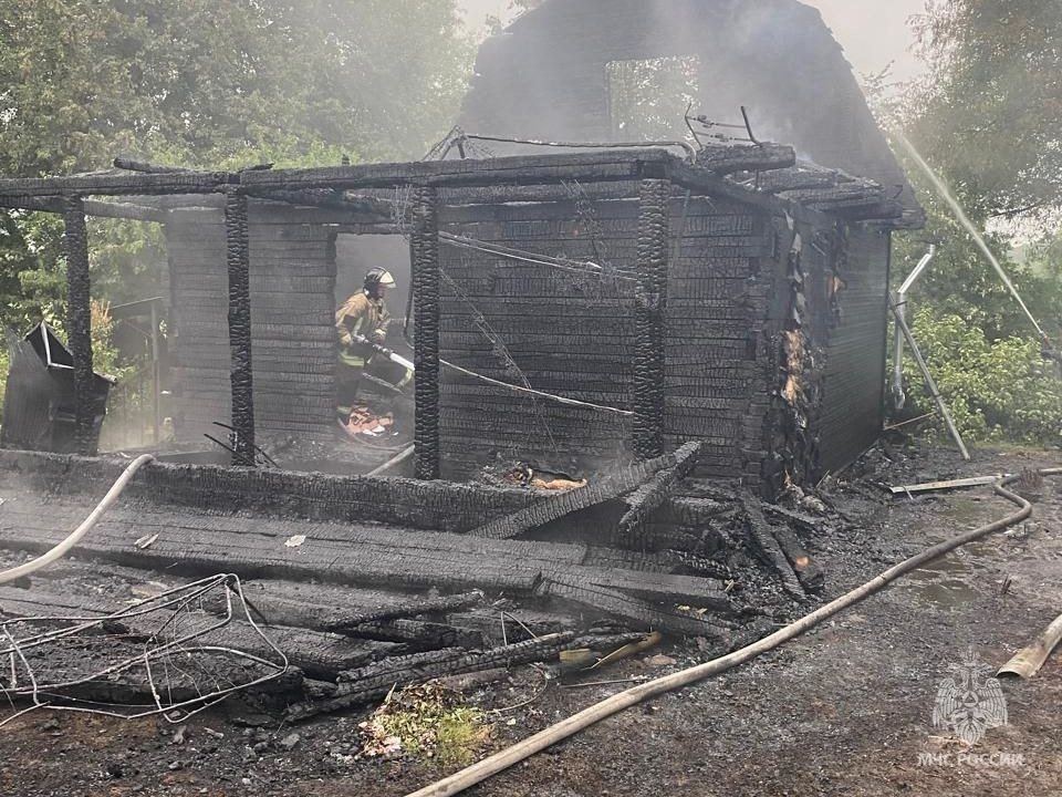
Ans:
[[[254,602],[280,618],[269,629],[278,643],[248,614],[231,646],[253,652],[268,677],[292,676],[277,693],[289,720],[428,674],[613,651],[642,636],[617,638],[610,622],[587,642],[576,635],[584,615],[723,651],[762,630],[749,607],[773,618],[780,600],[822,590],[818,562],[771,521],[813,535],[821,524],[751,493],[773,499],[876,439],[891,236],[919,211],[818,15],[793,0],[756,4],[774,15],[751,6],[548,0],[485,46],[465,128],[424,162],[202,173],[119,159],[90,175],[0,179],[0,207],[65,221],[62,364],[73,401],[63,408],[73,408],[81,454],[96,453],[100,403],[86,216],[163,225],[167,414],[180,449],[169,462],[137,458],[121,477],[126,464],[105,457],[0,452],[0,487],[15,497],[0,510],[0,547],[48,550],[90,496],[127,484],[80,553],[207,578],[175,594],[217,589],[230,605],[242,599],[237,575],[260,579]],[[671,12],[663,32],[653,15],[662,9]],[[743,32],[740,46],[718,33],[723,23]],[[802,31],[808,50],[787,61],[771,39],[757,40],[764,30]],[[551,37],[555,63],[541,58]],[[697,110],[677,116],[690,137],[642,130],[633,137],[653,141],[625,142],[616,108],[629,103],[615,75],[653,60],[693,80],[720,73],[720,59],[761,71],[743,89],[712,83],[721,99],[698,90]],[[837,100],[829,122],[802,93],[802,70],[825,75],[820,91]],[[388,345],[408,346],[416,366],[412,394],[395,398],[413,408],[412,468],[361,475],[384,453],[360,468],[344,459],[343,475],[298,473],[304,464],[278,441],[347,445],[336,439],[334,309],[352,275],[379,265],[408,288],[405,312],[392,308],[406,323]],[[40,410],[24,417],[49,422]],[[6,432],[19,422],[9,414]],[[195,458],[217,423],[231,429],[221,466]],[[260,464],[259,445],[280,469],[242,467]],[[587,483],[549,490],[479,478],[518,463]],[[538,539],[517,539],[529,532]],[[298,583],[306,579],[320,583]],[[575,607],[579,619],[502,620],[493,639],[494,607],[471,611],[479,590]],[[0,613],[86,611],[21,592],[4,592]],[[169,594],[159,597],[164,629],[176,625]],[[216,639],[201,603],[196,633]],[[168,643],[147,653],[137,644],[131,662],[166,660]]]

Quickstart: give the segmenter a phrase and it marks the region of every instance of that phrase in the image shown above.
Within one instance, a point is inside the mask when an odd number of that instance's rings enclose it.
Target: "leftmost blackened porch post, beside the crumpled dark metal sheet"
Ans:
[[[63,249],[66,255],[66,339],[74,359],[75,438],[79,454],[95,454],[92,400],[92,307],[88,280],[88,231],[81,197],[63,203]]]

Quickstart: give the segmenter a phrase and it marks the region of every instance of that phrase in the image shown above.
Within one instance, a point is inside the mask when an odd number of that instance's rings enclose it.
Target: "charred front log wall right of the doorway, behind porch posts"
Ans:
[[[632,184],[631,196],[638,186]],[[638,203],[587,200],[445,208],[444,230],[634,273]],[[767,411],[758,330],[767,315],[769,220],[745,206],[675,192],[668,203],[664,313],[665,447],[706,441],[702,469],[758,473]],[[623,277],[516,262],[444,246],[442,358],[514,384],[631,410],[636,300]],[[751,406],[751,414],[750,414]],[[752,417],[754,415],[754,418]],[[502,459],[600,466],[633,455],[629,416],[559,405],[442,372],[442,468],[471,475]]]

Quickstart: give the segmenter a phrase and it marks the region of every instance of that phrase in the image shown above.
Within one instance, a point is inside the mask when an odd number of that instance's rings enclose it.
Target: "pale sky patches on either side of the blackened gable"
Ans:
[[[907,81],[920,72],[918,59],[910,52],[914,35],[908,25],[912,14],[920,13],[925,0],[804,0],[822,13],[848,62],[858,74],[873,74],[893,64],[896,81]],[[508,19],[509,0],[458,0],[470,28],[481,29],[487,14]]]

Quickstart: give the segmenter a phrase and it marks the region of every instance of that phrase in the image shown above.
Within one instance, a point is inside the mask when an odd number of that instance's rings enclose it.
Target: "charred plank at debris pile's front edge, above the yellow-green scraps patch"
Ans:
[[[423,683],[445,675],[511,667],[534,661],[549,661],[571,646],[574,633],[550,634],[517,642],[488,651],[450,648],[429,653],[396,656],[377,664],[344,672],[336,685],[335,696],[300,703],[288,710],[289,721],[300,721],[316,714],[342,711],[386,695],[394,687]]]

